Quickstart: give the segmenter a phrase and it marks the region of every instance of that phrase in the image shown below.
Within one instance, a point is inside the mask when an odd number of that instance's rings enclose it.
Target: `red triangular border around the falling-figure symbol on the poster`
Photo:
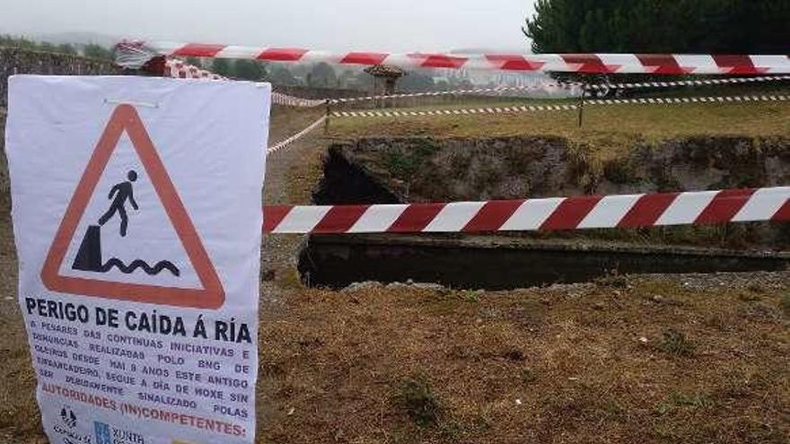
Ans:
[[[126,132],[137,156],[151,178],[157,196],[162,201],[173,229],[178,234],[181,245],[189,257],[189,261],[198,274],[202,289],[168,287],[147,283],[111,282],[86,277],[66,276],[59,269],[66,257],[66,251],[74,240],[75,231],[83,218],[96,185],[105,170],[112,152],[118,146],[121,135]],[[96,256],[95,254],[93,256]],[[99,258],[93,261],[101,262]],[[224,290],[215,266],[206,253],[206,248],[192,224],[186,208],[165,170],[159,154],[154,148],[151,137],[145,130],[143,121],[136,109],[130,105],[118,105],[113,111],[107,127],[99,139],[95,150],[85,167],[83,178],[77,185],[74,196],[66,208],[66,214],[60,222],[55,239],[49,248],[47,259],[41,270],[44,285],[53,292],[65,292],[82,296],[91,296],[111,300],[132,300],[160,305],[189,307],[194,309],[218,309],[224,303]]]

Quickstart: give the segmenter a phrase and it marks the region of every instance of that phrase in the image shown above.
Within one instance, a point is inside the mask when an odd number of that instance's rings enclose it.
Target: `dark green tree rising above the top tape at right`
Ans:
[[[536,53],[786,54],[790,1],[538,0]]]

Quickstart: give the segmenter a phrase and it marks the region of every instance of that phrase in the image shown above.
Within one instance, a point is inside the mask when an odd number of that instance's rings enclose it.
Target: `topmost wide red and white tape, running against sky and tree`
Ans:
[[[145,42],[145,48],[174,57],[243,58],[270,62],[328,62],[338,65],[395,65],[403,68],[486,69],[587,74],[790,74],[790,56],[680,54],[391,54],[332,53],[303,48],[268,48],[205,43]],[[124,47],[119,47],[124,50]],[[123,64],[126,57],[118,57]]]

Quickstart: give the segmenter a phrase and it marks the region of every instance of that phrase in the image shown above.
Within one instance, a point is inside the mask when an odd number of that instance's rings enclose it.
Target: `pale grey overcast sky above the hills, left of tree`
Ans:
[[[0,32],[245,45],[526,50],[535,0],[0,0]]]

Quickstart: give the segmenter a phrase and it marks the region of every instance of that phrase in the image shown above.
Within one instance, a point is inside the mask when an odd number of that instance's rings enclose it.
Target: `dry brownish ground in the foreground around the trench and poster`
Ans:
[[[277,112],[273,142],[318,116]],[[266,202],[308,202],[326,144],[272,155]],[[299,283],[302,241],[264,240],[259,442],[788,442],[788,273],[329,292]],[[0,289],[0,442],[46,442],[7,209]]]

